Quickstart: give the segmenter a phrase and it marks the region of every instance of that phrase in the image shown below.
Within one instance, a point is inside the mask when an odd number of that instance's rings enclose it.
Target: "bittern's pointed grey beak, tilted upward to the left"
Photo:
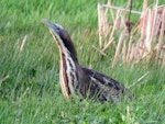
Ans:
[[[52,23],[52,22],[50,22],[50,21],[47,21],[45,19],[42,19],[41,21],[50,29],[50,31],[53,34],[56,34],[56,33],[58,34],[59,33],[59,27],[57,26],[57,24]]]

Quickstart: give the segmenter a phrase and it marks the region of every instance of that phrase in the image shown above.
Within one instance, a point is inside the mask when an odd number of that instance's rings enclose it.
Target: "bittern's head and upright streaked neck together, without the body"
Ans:
[[[64,97],[69,99],[69,94],[76,92],[75,87],[78,84],[76,77],[78,60],[74,44],[68,32],[62,25],[46,20],[42,21],[48,26],[51,34],[58,45],[61,54],[59,83]]]

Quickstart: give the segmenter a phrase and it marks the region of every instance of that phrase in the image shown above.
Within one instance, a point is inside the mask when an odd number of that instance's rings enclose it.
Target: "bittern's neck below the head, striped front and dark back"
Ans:
[[[58,44],[61,53],[61,69],[59,69],[59,83],[63,94],[66,99],[69,99],[70,93],[75,93],[75,82],[77,83],[77,55],[74,44],[67,41],[65,44]]]

